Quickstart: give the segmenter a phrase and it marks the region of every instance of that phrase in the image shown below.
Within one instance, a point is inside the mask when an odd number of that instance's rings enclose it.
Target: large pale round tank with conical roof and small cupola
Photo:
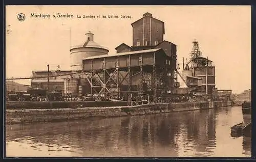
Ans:
[[[71,69],[82,70],[82,59],[92,56],[108,55],[109,49],[94,42],[94,34],[86,34],[86,43],[70,48]]]

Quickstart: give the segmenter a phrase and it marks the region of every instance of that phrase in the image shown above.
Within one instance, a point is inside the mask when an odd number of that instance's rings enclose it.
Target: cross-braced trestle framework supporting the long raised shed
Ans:
[[[156,99],[174,87],[174,70],[166,65],[104,68],[85,73],[91,94],[109,94],[116,98],[125,93],[147,93]]]

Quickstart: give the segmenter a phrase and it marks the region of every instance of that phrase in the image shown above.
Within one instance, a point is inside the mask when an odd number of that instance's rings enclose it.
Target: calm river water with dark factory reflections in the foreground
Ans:
[[[241,106],[170,114],[6,126],[7,156],[250,157],[230,136]]]

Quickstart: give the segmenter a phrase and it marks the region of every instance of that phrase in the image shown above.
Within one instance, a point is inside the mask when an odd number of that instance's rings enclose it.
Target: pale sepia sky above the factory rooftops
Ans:
[[[121,43],[132,45],[131,23],[146,12],[165,22],[164,40],[177,45],[180,67],[196,39],[202,56],[214,61],[218,89],[234,93],[251,89],[250,6],[7,6],[6,77],[30,77],[32,70],[47,70],[47,64],[50,70],[58,65],[70,69],[70,46],[83,44],[88,31],[110,54],[116,53]],[[19,13],[26,15],[24,21],[18,21]],[[50,18],[34,18],[33,13]],[[53,18],[57,13],[73,18]],[[30,85],[29,79],[16,82]]]

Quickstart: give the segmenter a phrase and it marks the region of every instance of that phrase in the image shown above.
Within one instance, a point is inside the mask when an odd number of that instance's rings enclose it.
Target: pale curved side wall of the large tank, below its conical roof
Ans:
[[[72,70],[82,70],[82,59],[99,56],[99,55],[108,55],[108,50],[103,48],[74,48],[70,50],[70,60],[71,60],[71,69]]]

